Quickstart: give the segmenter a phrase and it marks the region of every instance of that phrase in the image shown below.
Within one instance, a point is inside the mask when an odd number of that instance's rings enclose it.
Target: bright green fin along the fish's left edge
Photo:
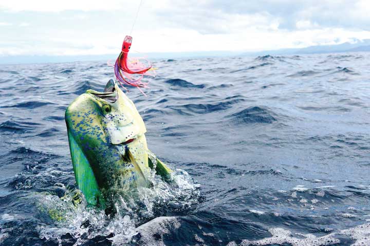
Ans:
[[[105,201],[101,195],[93,169],[91,169],[89,161],[77,144],[75,138],[73,138],[69,129],[67,129],[67,131],[73,171],[75,172],[77,185],[85,195],[87,203],[104,208]]]

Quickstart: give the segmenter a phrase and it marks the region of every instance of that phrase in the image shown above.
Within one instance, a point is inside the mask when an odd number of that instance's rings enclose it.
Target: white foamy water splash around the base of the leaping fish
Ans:
[[[155,160],[155,155],[151,153],[150,158]],[[72,238],[73,245],[98,237],[111,241],[113,245],[137,241],[158,245],[158,235],[163,237],[169,232],[169,227],[179,227],[172,215],[198,203],[199,185],[180,169],[171,174],[171,182],[164,182],[154,171],[151,171],[149,180],[152,187],[138,188],[130,196],[116,201],[115,215],[106,215],[102,210],[88,207],[79,190],[68,191],[62,198],[39,193],[40,212],[54,222],[52,226],[38,227],[40,238],[57,240],[59,245],[66,235]]]

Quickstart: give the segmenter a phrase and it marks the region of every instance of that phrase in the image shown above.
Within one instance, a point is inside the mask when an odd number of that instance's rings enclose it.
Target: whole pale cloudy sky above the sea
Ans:
[[[140,0],[0,2],[0,55],[116,54]],[[261,51],[370,38],[369,0],[143,0],[140,52]]]

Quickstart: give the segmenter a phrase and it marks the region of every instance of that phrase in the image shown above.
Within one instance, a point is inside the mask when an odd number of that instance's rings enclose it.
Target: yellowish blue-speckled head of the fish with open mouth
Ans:
[[[90,89],[73,101],[66,110],[66,121],[80,138],[102,135],[112,145],[130,143],[146,132],[133,101],[112,79],[103,92]]]

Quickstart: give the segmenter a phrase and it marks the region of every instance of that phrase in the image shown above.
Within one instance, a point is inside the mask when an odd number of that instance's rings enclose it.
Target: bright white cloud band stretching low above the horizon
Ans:
[[[48,34],[53,36],[52,34]],[[48,37],[42,37],[44,39]],[[73,38],[71,38],[73,36]],[[150,37],[150,38],[149,38]],[[339,37],[339,39],[338,39]],[[243,33],[231,34],[201,34],[194,30],[157,29],[138,31],[134,36],[132,53],[149,52],[196,52],[196,51],[258,51],[280,48],[300,48],[311,45],[336,44],[349,42],[353,37],[370,38],[369,31],[348,31],[345,29],[316,29],[301,31],[257,31],[245,30]],[[49,40],[40,40],[42,45],[27,43],[3,47],[2,55],[96,55],[118,54],[122,37],[115,34],[99,35],[88,33],[84,35],[70,34]]]

